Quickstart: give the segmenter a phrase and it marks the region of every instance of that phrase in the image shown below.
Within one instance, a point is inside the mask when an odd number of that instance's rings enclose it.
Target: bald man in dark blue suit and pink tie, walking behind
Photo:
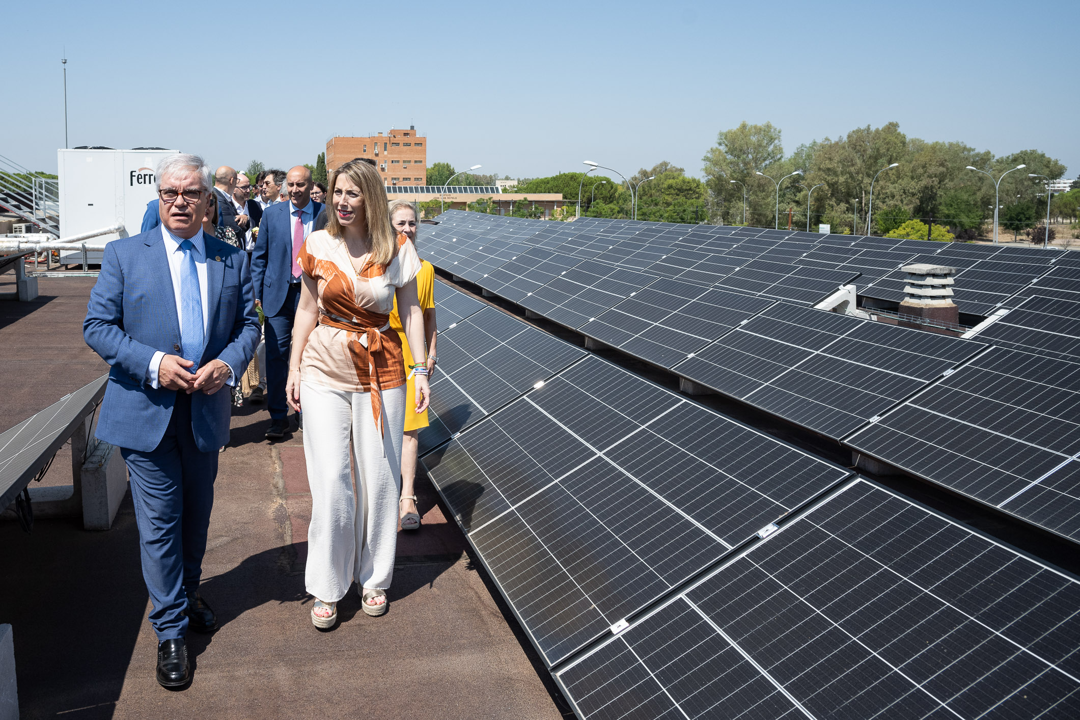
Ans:
[[[255,304],[261,305],[266,315],[262,329],[266,332],[267,405],[270,409],[268,438],[283,437],[288,431],[285,383],[302,274],[296,256],[314,230],[315,218],[323,208],[322,203],[311,200],[311,171],[303,165],[288,171],[285,187],[289,202],[268,205],[262,210],[252,253]]]

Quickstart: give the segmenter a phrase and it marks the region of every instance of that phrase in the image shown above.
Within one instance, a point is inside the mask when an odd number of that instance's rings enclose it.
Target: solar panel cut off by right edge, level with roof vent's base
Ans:
[[[1029,297],[976,337],[1014,350],[1038,350],[1050,357],[1077,361],[1080,359],[1080,302]]]

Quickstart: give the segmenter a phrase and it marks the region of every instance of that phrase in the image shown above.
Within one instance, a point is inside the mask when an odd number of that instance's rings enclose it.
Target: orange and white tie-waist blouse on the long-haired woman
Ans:
[[[354,393],[370,392],[373,380],[376,390],[405,384],[401,339],[389,321],[394,291],[420,271],[413,243],[399,235],[394,259],[369,263],[357,277],[345,241],[320,230],[308,235],[297,261],[319,284],[319,325],[303,349],[300,380]]]

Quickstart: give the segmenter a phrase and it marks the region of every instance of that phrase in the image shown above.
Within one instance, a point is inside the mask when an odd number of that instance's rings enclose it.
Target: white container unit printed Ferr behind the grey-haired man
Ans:
[[[60,237],[107,228],[117,222],[124,233],[94,237],[100,243],[137,235],[146,206],[158,196],[154,171],[165,155],[179,150],[94,150],[56,151],[59,177]],[[81,262],[82,253],[60,253],[63,262]],[[102,254],[90,253],[87,260],[98,264]]]

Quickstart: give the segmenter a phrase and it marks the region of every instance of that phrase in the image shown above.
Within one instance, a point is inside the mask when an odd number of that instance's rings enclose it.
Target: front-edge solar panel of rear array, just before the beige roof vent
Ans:
[[[780,302],[674,370],[840,438],[985,347]]]

